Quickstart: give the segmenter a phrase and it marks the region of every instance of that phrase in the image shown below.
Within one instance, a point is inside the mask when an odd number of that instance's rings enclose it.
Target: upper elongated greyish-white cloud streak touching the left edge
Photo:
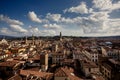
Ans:
[[[23,25],[23,22],[19,20],[10,19],[9,17],[4,15],[0,15],[0,21],[4,21],[8,24]]]

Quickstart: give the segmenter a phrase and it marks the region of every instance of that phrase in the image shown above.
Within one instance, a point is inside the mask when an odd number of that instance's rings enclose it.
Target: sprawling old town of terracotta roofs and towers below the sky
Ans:
[[[0,80],[120,80],[120,40],[3,38]]]

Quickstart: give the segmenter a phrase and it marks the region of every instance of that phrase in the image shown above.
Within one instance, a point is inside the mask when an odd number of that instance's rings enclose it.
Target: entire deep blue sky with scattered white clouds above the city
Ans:
[[[120,0],[0,0],[0,34],[117,36]]]

